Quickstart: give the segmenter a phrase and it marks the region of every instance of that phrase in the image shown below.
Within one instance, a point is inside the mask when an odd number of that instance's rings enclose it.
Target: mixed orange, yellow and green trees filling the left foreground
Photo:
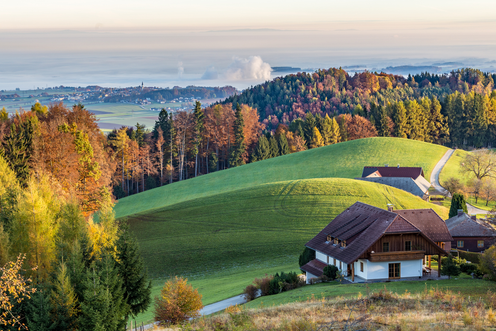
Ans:
[[[123,330],[149,306],[151,285],[114,219],[115,162],[94,116],[36,104],[2,110],[0,129],[0,265],[22,261],[2,275],[0,322],[13,317],[2,330]],[[32,294],[20,301],[3,285],[25,277]]]

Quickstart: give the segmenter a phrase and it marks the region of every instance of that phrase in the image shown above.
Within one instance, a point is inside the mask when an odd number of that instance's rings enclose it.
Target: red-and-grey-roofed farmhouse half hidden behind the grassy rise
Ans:
[[[422,167],[364,167],[362,177],[357,180],[380,183],[409,192],[414,196],[429,201],[431,183],[424,178]]]

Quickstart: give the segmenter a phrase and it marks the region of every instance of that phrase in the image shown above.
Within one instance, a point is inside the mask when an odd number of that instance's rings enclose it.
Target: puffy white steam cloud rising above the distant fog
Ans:
[[[233,58],[233,63],[227,68],[227,79],[270,79],[272,68],[262,61],[259,56],[250,56],[248,59]]]

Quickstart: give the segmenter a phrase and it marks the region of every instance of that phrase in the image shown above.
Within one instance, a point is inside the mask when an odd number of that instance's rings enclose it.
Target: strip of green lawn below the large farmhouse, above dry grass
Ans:
[[[461,275],[460,275],[461,276]],[[367,288],[369,287],[369,289]],[[468,297],[470,295],[472,301],[483,299],[486,297],[488,290],[495,291],[495,283],[488,280],[461,278],[461,279],[443,279],[443,280],[421,280],[421,281],[392,281],[389,283],[379,282],[370,284],[339,284],[338,282],[318,283],[313,285],[305,285],[291,291],[282,292],[276,295],[259,297],[245,304],[247,308],[258,308],[262,306],[278,306],[283,303],[306,301],[313,295],[317,299],[322,296],[328,298],[334,297],[352,297],[366,296],[367,291],[378,291],[384,286],[393,293],[402,294],[406,292],[415,293],[422,292],[426,286],[429,290],[431,287],[443,288],[457,294]]]

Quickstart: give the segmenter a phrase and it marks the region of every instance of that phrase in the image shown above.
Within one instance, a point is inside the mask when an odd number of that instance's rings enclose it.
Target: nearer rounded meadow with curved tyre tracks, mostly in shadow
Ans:
[[[181,274],[210,304],[240,294],[265,273],[298,270],[304,244],[352,203],[448,210],[388,186],[341,178],[262,184],[127,218],[158,294]],[[149,312],[138,318],[152,318]]]

